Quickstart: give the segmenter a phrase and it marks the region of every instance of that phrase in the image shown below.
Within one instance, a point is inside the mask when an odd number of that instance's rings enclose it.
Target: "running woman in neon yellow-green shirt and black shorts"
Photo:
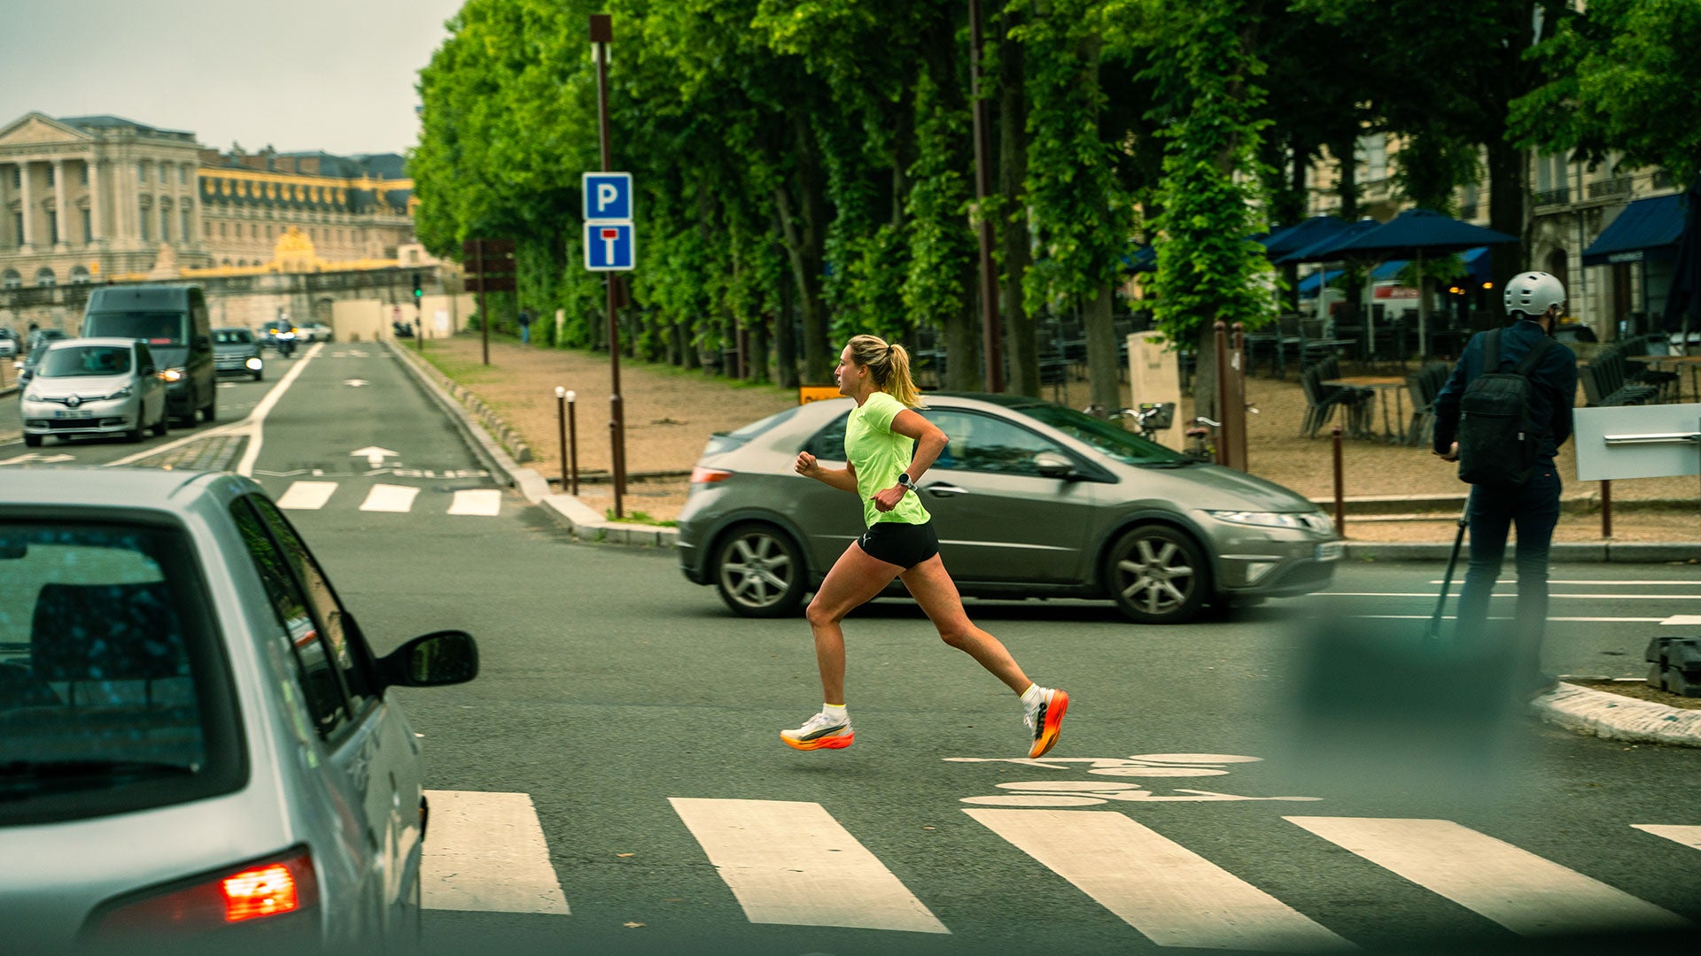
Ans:
[[[910,379],[910,354],[874,335],[850,339],[839,354],[839,393],[856,400],[845,424],[845,468],[822,468],[810,452],[799,452],[798,475],[815,478],[862,498],[868,531],[845,548],[810,600],[810,629],[815,633],[815,663],[822,670],[822,713],[796,730],[779,731],[798,750],[850,747],[856,731],[845,713],[845,638],[840,623],[891,583],[903,580],[915,602],[939,629],[939,638],[968,653],[981,667],[1021,694],[1026,721],[1033,730],[1029,757],[1039,757],[1058,742],[1068,694],[1039,687],[1004,648],[963,611],[956,583],[939,560],[939,538],[932,515],[915,495],[917,481],[946,447],[946,434],[913,408],[922,396]]]

